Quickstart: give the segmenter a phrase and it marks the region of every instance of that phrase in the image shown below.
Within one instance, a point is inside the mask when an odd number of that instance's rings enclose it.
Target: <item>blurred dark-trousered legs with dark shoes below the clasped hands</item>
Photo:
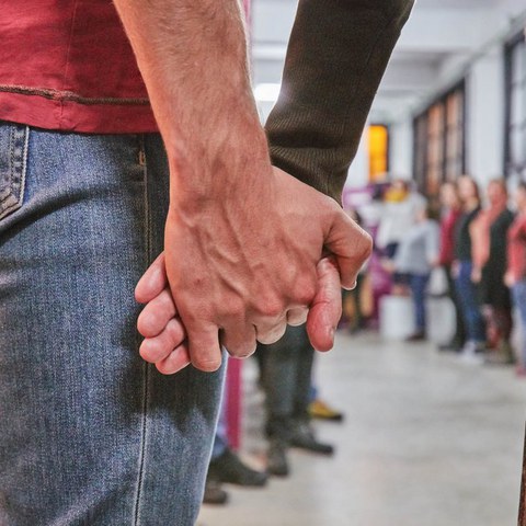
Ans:
[[[258,345],[264,354],[266,424],[268,438],[266,470],[270,474],[286,477],[289,473],[287,450],[298,447],[322,455],[332,455],[330,444],[319,442],[310,425],[315,350],[306,327],[289,327],[276,343]]]

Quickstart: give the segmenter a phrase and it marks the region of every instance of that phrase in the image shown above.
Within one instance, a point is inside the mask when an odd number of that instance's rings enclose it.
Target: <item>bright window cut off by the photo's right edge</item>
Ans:
[[[506,57],[506,129],[504,173],[526,180],[526,42],[519,33],[507,43]]]

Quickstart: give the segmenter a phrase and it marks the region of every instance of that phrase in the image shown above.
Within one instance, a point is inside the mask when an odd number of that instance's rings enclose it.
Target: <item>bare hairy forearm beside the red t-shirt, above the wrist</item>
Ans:
[[[244,164],[264,162],[238,1],[114,3],[165,144],[172,197],[206,199],[247,175]]]

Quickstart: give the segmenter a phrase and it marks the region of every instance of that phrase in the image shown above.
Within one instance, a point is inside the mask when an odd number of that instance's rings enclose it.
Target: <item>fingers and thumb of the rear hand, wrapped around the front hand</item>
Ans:
[[[307,332],[320,350],[333,345],[333,328],[342,316],[341,285],[338,266],[332,258],[323,258],[317,265],[318,289],[312,302]],[[188,355],[184,327],[176,316],[164,267],[164,254],[150,265],[136,287],[136,298],[148,304],[140,313],[137,327],[145,336],[140,355],[156,364],[158,370],[170,375],[186,367]]]

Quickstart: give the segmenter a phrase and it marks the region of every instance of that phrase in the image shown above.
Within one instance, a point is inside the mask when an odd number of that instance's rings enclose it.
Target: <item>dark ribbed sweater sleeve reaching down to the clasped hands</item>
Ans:
[[[300,0],[279,98],[273,164],[340,202],[373,99],[413,0]]]

